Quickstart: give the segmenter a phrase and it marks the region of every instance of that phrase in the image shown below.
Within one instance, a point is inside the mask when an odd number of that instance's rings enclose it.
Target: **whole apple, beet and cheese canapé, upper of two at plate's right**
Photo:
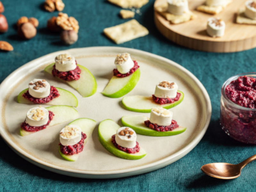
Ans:
[[[183,100],[184,94],[178,91],[175,82],[162,81],[156,85],[155,94],[150,96],[133,95],[124,97],[122,103],[130,111],[150,113],[151,108],[163,107],[166,109],[175,107]]]

